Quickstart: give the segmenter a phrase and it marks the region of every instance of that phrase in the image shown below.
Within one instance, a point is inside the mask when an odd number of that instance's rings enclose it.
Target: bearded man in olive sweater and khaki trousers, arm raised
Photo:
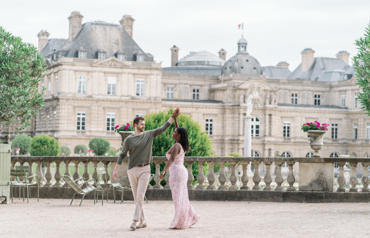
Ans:
[[[176,110],[179,110],[177,107]],[[164,133],[174,121],[173,115],[166,121],[161,127],[145,131],[145,120],[143,117],[135,117],[133,123],[135,132],[129,135],[123,143],[122,151],[118,156],[117,165],[114,168],[112,178],[117,180],[117,170],[120,168],[123,159],[129,152],[128,170],[127,175],[131,184],[132,194],[135,200],[135,211],[132,224],[130,226],[134,231],[137,228],[147,227],[147,223],[144,218],[144,211],[142,206],[144,204],[144,195],[147,191],[148,182],[150,178],[150,164],[152,161],[152,146],[153,139]],[[139,225],[136,226],[136,222],[140,221]]]

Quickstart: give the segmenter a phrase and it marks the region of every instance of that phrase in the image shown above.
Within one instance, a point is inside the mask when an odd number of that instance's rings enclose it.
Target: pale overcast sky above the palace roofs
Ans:
[[[2,1],[0,25],[26,42],[38,45],[37,33],[47,29],[49,38],[68,38],[71,11],[84,16],[82,23],[102,20],[120,24],[122,15],[135,19],[133,38],[144,50],[171,64],[173,45],[179,59],[189,51],[207,50],[215,55],[223,48],[230,58],[244,23],[247,51],[261,66],[287,61],[293,71],[301,63],[300,52],[312,48],[315,57],[335,57],[340,50],[356,53],[354,40],[363,36],[370,21],[369,0],[310,1]]]

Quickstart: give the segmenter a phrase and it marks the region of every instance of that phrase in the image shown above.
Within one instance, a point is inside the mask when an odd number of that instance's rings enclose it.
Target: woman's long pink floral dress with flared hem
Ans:
[[[177,143],[179,144],[179,143]],[[180,145],[181,146],[181,145]],[[166,153],[169,159],[171,155]],[[175,158],[175,161],[169,167],[169,186],[171,187],[172,200],[175,202],[175,217],[171,222],[170,228],[185,229],[199,221],[199,216],[189,202],[188,195],[188,171],[184,166],[185,151],[181,152]]]

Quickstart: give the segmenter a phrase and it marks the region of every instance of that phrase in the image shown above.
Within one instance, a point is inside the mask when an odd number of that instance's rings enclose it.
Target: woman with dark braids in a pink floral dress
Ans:
[[[159,177],[163,180],[165,171],[169,168],[169,186],[171,187],[172,200],[175,202],[175,217],[169,226],[169,229],[185,229],[191,227],[199,221],[200,216],[196,214],[189,202],[188,187],[188,171],[184,166],[185,152],[190,150],[188,141],[188,131],[184,127],[179,127],[177,124],[177,116],[180,111],[176,110],[174,114],[175,131],[172,133],[172,138],[176,143],[166,153],[168,162],[164,167]]]

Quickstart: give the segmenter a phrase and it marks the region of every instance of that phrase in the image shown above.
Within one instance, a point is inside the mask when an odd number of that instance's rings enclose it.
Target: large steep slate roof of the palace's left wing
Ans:
[[[50,39],[46,47],[41,51],[44,57],[48,57],[56,43],[51,40],[63,40],[64,44],[55,47],[65,57],[78,57],[77,50],[81,47],[86,50],[86,58],[97,58],[97,51],[106,51],[105,58],[110,58],[118,50],[125,54],[125,60],[136,61],[135,54],[144,55],[144,62],[153,62],[151,55],[144,51],[135,43],[124,28],[119,24],[106,23],[102,21],[88,22],[82,25],[73,41],[67,43],[67,39]],[[50,47],[47,47],[50,44]]]

